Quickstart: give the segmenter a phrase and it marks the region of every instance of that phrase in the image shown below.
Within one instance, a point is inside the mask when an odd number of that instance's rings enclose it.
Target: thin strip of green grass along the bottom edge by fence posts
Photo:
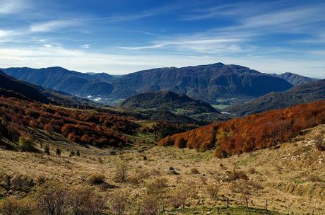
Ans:
[[[171,211],[162,211],[160,214],[220,214],[220,215],[280,215],[280,213],[276,211],[266,211],[265,209],[258,209],[249,207],[216,207],[216,208],[198,208],[198,209],[173,209]]]

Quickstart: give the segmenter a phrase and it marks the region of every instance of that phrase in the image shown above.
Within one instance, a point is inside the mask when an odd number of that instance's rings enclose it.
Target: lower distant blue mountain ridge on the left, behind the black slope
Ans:
[[[42,69],[8,68],[3,69],[3,71],[16,79],[81,97],[87,97],[88,95],[107,96],[113,90],[112,85],[107,83],[113,77],[105,73],[84,74],[61,67]]]

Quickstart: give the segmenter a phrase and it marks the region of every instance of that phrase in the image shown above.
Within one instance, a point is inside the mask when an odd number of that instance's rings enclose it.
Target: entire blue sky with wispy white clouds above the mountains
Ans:
[[[223,62],[325,78],[323,1],[0,0],[0,68]]]

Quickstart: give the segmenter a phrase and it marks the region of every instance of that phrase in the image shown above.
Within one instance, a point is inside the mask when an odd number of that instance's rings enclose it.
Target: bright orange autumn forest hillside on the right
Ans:
[[[224,158],[276,146],[324,122],[325,100],[321,100],[199,127],[167,136],[159,145],[215,149],[215,156]]]

